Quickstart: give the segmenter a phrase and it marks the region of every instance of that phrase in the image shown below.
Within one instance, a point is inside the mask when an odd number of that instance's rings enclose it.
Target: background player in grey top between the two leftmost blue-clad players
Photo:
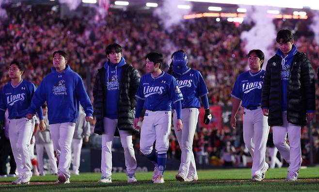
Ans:
[[[43,151],[46,149],[48,160],[51,166],[52,175],[58,174],[58,167],[56,163],[56,159],[54,157],[54,148],[53,148],[53,142],[51,139],[51,133],[50,133],[50,127],[48,124],[48,107],[46,104],[42,105],[42,111],[43,111],[43,119],[46,124],[46,130],[45,131],[38,131],[37,129],[34,130],[35,132],[35,150],[37,154],[38,159],[38,168],[39,168],[39,174],[41,176],[45,176],[44,173],[44,167],[43,167]]]

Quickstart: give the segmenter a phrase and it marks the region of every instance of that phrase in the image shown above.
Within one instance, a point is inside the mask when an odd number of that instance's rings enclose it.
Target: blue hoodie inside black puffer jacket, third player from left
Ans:
[[[113,64],[110,61],[104,64],[105,86],[106,86],[106,102],[104,107],[105,117],[110,119],[118,118],[118,99],[120,94],[121,71],[125,65],[125,59],[122,57],[118,64]]]

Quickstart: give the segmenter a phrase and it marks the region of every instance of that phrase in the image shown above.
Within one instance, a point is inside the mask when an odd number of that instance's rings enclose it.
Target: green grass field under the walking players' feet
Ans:
[[[0,178],[0,192],[208,192],[208,191],[319,191],[319,167],[308,167],[299,171],[296,182],[285,181],[287,168],[270,169],[262,182],[250,181],[250,169],[199,170],[196,182],[175,180],[177,171],[164,173],[164,184],[153,184],[153,172],[136,173],[137,183],[128,184],[124,173],[112,175],[112,183],[97,183],[100,174],[83,173],[71,176],[68,185],[55,185],[57,176],[33,176],[30,185],[11,185],[14,178]]]

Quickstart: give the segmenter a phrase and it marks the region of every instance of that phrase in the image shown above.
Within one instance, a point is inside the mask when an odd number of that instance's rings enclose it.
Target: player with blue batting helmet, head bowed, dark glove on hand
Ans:
[[[201,73],[187,66],[187,55],[183,50],[172,54],[170,71],[176,78],[178,87],[183,94],[182,100],[182,123],[183,130],[176,128],[176,115],[173,115],[175,134],[181,148],[181,162],[178,174],[175,176],[179,181],[197,180],[196,164],[192,152],[193,138],[197,125],[201,97],[205,108],[204,123],[207,125],[211,119],[208,105],[208,90]]]

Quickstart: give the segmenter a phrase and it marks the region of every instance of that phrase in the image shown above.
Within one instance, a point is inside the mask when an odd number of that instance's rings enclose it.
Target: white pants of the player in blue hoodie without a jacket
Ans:
[[[56,123],[50,125],[51,138],[59,159],[58,174],[70,177],[71,142],[75,130],[75,123]]]

